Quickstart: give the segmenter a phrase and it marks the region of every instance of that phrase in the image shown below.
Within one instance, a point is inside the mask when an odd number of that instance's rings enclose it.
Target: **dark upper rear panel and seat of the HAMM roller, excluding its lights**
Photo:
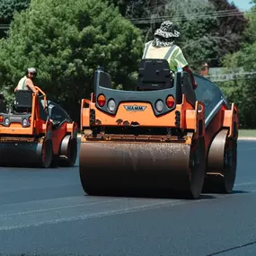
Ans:
[[[94,93],[97,97],[102,93],[106,102],[114,99],[119,106],[120,102],[148,102],[152,105],[155,116],[166,114],[175,109],[175,105],[169,109],[165,102],[172,95],[176,103],[181,103],[182,93],[185,93],[188,102],[195,106],[196,95],[190,82],[190,76],[186,72],[177,72],[172,79],[172,72],[165,59],[143,59],[140,62],[137,77],[137,91],[121,91],[111,89],[111,76],[102,69],[94,73]],[[154,93],[153,93],[154,91]],[[155,108],[157,100],[163,101],[163,111],[158,112]],[[111,115],[116,114],[118,108],[110,112],[107,103],[101,107],[96,101],[96,107]]]

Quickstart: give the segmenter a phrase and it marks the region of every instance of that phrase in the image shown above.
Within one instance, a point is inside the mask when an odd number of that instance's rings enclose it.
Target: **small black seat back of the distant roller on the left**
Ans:
[[[32,93],[30,90],[19,90],[15,93],[14,110],[17,112],[31,112]]]

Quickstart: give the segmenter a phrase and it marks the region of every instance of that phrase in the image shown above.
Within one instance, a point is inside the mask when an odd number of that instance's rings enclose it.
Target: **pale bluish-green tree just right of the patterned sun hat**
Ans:
[[[165,15],[172,17],[171,20],[181,32],[177,43],[190,66],[197,71],[202,63],[215,57],[218,51],[216,18],[204,14],[214,11],[214,6],[204,0],[173,0],[165,8]]]

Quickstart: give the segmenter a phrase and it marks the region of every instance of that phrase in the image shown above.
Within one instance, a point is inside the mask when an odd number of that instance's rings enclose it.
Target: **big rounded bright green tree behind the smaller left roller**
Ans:
[[[99,0],[32,0],[16,13],[0,57],[10,92],[27,66],[39,70],[38,85],[69,106],[93,90],[93,74],[104,66],[112,81],[132,84],[142,55],[140,31],[112,5]],[[12,85],[10,85],[12,84]]]

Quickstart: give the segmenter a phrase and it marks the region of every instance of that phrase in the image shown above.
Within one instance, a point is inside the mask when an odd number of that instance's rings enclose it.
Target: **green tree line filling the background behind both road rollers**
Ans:
[[[176,42],[196,72],[207,62],[254,73],[256,18],[247,18],[227,0],[0,0],[2,23],[13,21],[0,40],[1,90],[11,99],[24,69],[35,66],[37,84],[69,112],[75,108],[78,120],[95,68],[104,66],[115,86],[133,86],[144,43],[163,20],[181,32]],[[253,79],[219,85],[238,104],[243,127],[255,128]]]

